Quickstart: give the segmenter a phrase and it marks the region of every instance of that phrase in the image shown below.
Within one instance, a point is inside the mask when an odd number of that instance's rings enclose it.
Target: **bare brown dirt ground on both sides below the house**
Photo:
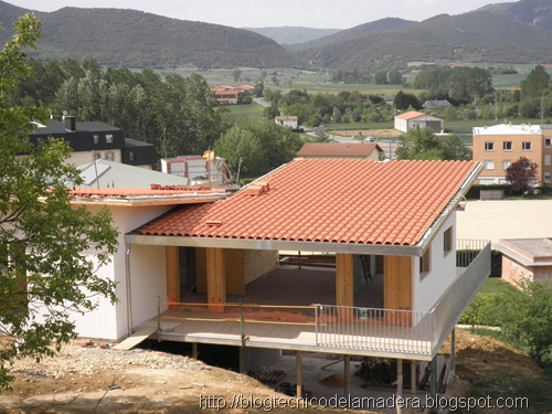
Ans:
[[[443,352],[448,349],[445,344]],[[214,408],[203,410],[201,395],[232,399],[242,394],[264,399],[275,394],[250,376],[188,357],[140,349],[116,351],[87,341],[67,346],[57,357],[40,363],[17,361],[12,370],[17,380],[11,392],[3,391],[0,395],[0,413],[215,413]],[[452,393],[461,395],[474,378],[481,380],[497,370],[507,370],[517,379],[542,375],[520,352],[493,339],[457,330],[457,381]],[[297,408],[277,411],[295,413]],[[496,410],[492,413],[501,414]]]

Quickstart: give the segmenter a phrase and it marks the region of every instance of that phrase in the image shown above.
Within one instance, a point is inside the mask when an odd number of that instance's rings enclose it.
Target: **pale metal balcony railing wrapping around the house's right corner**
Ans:
[[[431,355],[490,274],[490,242],[457,241],[464,272],[428,312],[316,306],[318,346]]]

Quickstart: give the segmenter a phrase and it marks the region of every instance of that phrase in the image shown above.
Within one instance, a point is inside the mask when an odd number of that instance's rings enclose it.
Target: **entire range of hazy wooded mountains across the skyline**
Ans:
[[[13,21],[30,11],[0,1],[1,42],[11,36]],[[235,29],[128,9],[63,8],[34,13],[43,30],[39,49],[31,52],[35,57],[93,57],[106,66],[373,72],[404,68],[408,62],[552,63],[550,0],[489,4],[422,22],[382,19],[340,31]]]

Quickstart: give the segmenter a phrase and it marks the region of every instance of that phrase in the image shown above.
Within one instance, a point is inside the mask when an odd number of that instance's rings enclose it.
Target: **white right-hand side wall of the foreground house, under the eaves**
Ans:
[[[420,274],[420,257],[414,258],[413,309],[429,310],[456,279],[456,212],[440,227],[431,245],[429,272]],[[444,252],[444,233],[453,226],[452,250]]]

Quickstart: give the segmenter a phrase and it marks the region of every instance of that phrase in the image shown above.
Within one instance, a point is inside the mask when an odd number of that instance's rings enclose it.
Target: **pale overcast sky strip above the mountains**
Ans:
[[[30,10],[63,7],[137,9],[180,20],[234,28],[300,25],[349,29],[383,18],[422,21],[460,14],[492,2],[512,0],[7,0]]]

